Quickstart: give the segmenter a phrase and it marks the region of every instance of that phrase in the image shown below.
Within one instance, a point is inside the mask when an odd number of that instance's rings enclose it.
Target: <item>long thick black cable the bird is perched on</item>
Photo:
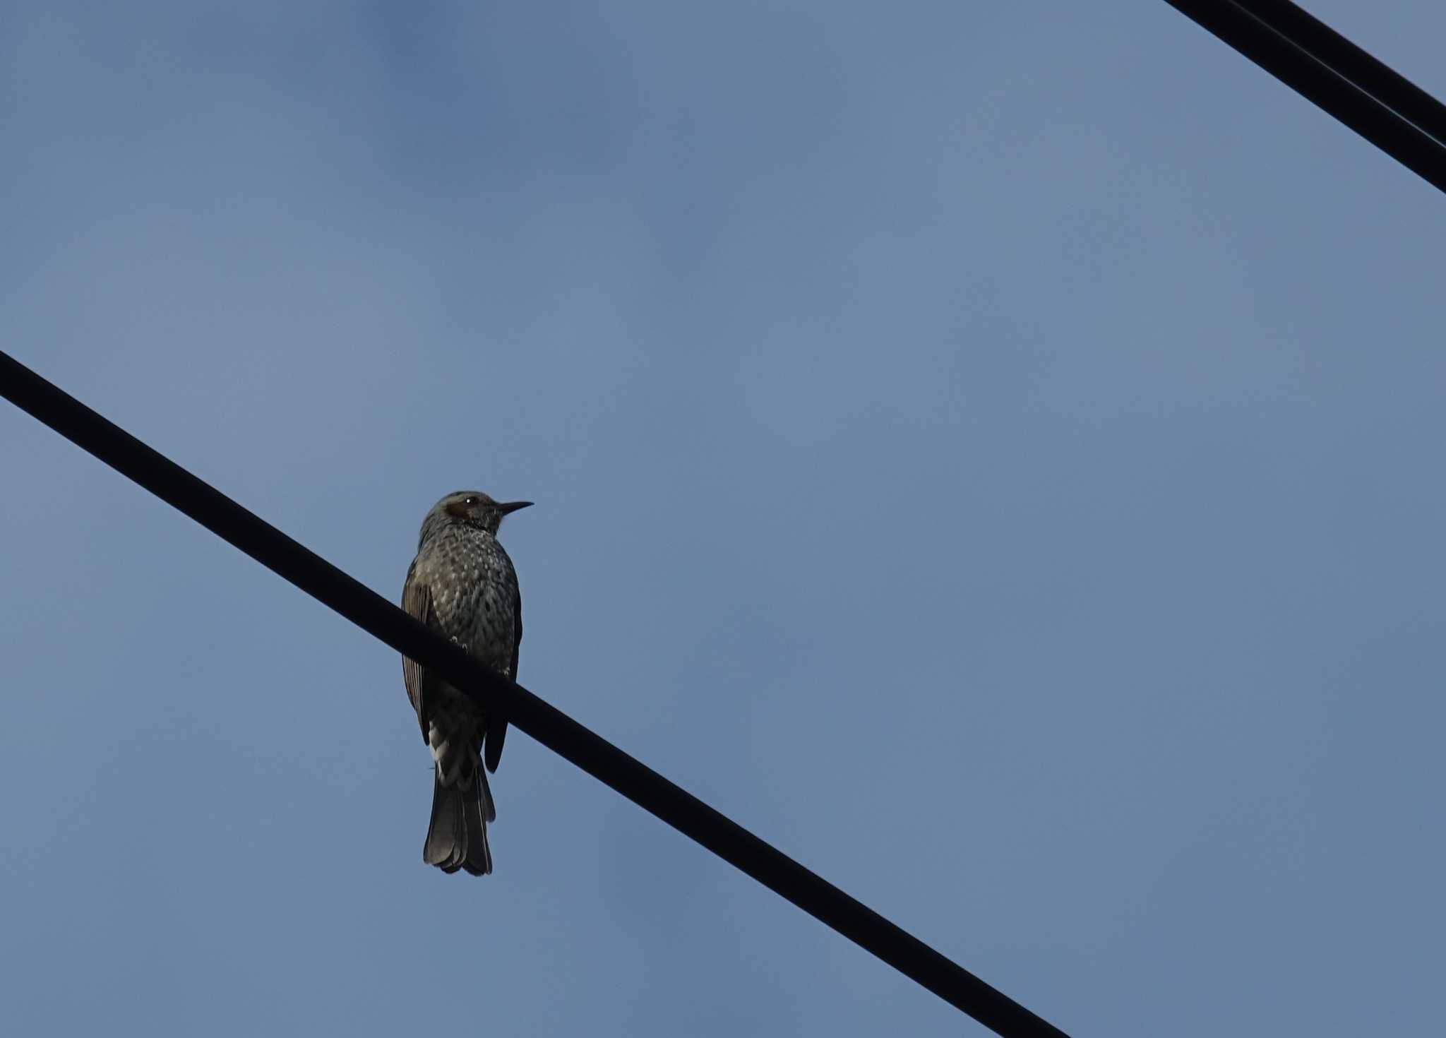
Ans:
[[[437,669],[539,743],[610,785],[645,811],[697,840],[763,886],[991,1031],[1009,1038],[1064,1038],[1064,1032],[950,961],[833,883],[759,840],[697,797],[594,734],[418,623],[369,587],[243,509],[220,490],[162,457],[124,429],[0,353],[0,396],[130,477],[161,500],[334,609],[370,635]]]

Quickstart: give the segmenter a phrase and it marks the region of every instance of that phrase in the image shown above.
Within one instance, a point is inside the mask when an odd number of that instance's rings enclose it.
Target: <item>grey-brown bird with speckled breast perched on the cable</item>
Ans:
[[[402,609],[487,666],[518,677],[522,596],[512,559],[497,544],[502,518],[532,502],[495,502],[480,490],[447,494],[422,520]],[[422,860],[442,872],[492,872],[487,823],[497,817],[487,773],[497,771],[508,721],[421,664],[402,658],[406,697],[432,750],[432,821]]]

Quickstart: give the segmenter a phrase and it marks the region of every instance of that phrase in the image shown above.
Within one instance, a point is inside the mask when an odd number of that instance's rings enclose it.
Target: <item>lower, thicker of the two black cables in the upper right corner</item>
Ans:
[[[1446,147],[1232,0],[1165,0],[1421,179],[1446,191]]]

